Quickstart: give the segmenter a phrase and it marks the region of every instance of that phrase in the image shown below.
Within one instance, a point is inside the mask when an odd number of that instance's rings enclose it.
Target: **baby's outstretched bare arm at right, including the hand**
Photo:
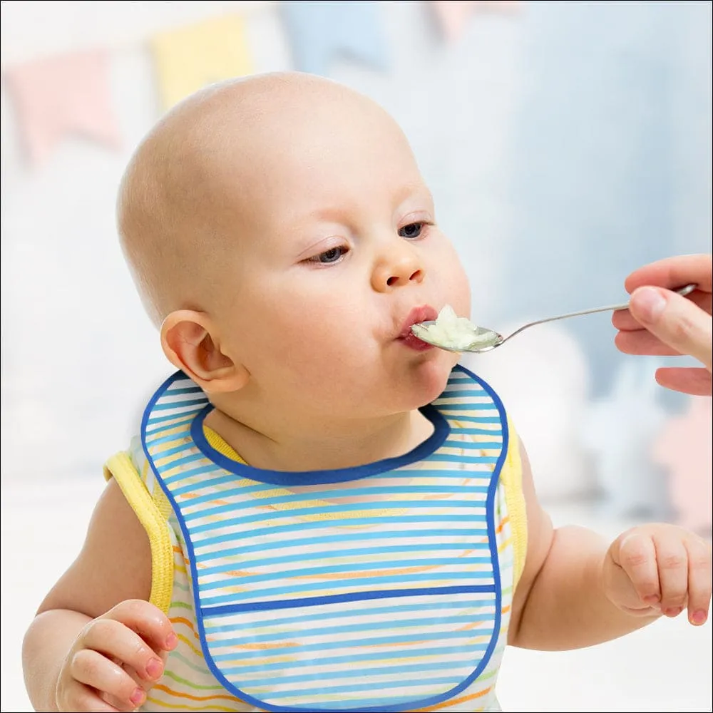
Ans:
[[[520,443],[528,552],[513,600],[511,645],[567,650],[615,639],[688,608],[702,624],[711,598],[711,548],[674,525],[642,525],[613,543],[553,528],[535,496]],[[622,477],[626,477],[622,473]]]

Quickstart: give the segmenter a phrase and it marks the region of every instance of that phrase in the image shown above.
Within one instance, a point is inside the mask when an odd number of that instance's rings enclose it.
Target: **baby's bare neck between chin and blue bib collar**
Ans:
[[[328,434],[287,435],[261,433],[218,408],[205,425],[221,436],[246,463],[274,471],[321,471],[352,468],[395,458],[419,446],[434,431],[420,411],[408,411],[383,419],[345,424]]]

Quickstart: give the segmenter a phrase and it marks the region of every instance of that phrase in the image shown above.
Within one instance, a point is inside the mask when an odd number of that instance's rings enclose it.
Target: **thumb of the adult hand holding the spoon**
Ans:
[[[667,289],[639,287],[632,293],[629,311],[662,342],[694,356],[711,371],[712,321],[697,304]]]

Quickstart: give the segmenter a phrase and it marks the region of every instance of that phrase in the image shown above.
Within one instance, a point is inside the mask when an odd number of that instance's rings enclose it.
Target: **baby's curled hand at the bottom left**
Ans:
[[[57,679],[60,711],[132,711],[163,675],[178,643],[168,617],[143,600],[127,600],[79,632]]]

